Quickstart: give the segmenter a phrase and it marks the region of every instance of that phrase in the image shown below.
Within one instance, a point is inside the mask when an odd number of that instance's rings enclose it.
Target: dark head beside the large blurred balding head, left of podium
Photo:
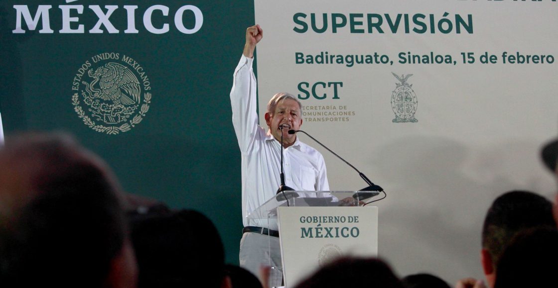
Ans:
[[[182,210],[138,213],[130,221],[139,288],[187,287],[199,281],[208,288],[222,285],[224,248],[209,218]]]

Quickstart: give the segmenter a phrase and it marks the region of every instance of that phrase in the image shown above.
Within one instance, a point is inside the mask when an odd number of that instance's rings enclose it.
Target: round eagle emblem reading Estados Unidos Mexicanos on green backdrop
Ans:
[[[75,74],[74,111],[89,128],[116,135],[134,128],[151,104],[151,83],[143,67],[121,53],[100,53]]]

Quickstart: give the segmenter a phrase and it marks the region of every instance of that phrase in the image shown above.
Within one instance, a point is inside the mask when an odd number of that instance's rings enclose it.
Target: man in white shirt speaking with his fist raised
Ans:
[[[246,30],[246,45],[234,71],[230,91],[233,126],[242,154],[244,229],[240,240],[240,266],[254,275],[259,275],[261,265],[281,267],[277,223],[247,218],[254,209],[275,197],[281,186],[281,153],[287,186],[296,191],[329,190],[322,155],[299,141],[296,134],[288,134],[288,130],[299,130],[302,125],[302,105],[295,96],[284,92],[275,94],[267,104],[267,131],[258,125],[257,86],[252,62],[254,49],[262,37],[263,30],[259,25]],[[280,282],[282,272],[271,271],[271,281]]]

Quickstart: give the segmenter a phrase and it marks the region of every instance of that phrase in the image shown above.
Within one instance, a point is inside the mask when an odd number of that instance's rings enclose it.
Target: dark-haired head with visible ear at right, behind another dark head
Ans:
[[[552,216],[552,203],[528,191],[502,194],[488,209],[482,232],[481,262],[490,287],[494,286],[499,258],[512,238],[523,230],[538,227],[556,227]]]

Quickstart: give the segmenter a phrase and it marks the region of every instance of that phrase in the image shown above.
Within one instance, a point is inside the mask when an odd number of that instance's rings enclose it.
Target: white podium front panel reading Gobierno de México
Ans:
[[[278,207],[285,287],[339,256],[378,255],[378,207]]]

